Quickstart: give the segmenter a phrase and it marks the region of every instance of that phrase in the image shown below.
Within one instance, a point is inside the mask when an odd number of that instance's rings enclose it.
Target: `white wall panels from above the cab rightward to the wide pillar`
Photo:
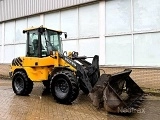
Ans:
[[[99,55],[98,8],[98,4],[93,4],[47,13],[44,25],[68,33],[67,40],[62,37],[64,51],[78,51],[79,55],[86,56]]]

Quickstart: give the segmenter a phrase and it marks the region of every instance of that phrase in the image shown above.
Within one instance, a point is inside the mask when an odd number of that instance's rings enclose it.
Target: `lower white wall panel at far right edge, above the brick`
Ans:
[[[160,33],[134,36],[134,63],[136,66],[160,65]]]

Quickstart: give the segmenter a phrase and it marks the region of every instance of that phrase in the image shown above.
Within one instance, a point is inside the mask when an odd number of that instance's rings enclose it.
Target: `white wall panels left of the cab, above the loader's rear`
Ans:
[[[26,36],[22,33],[27,28],[27,19],[20,19],[4,23],[4,45],[1,52],[2,63],[11,63],[12,59],[24,56],[26,50]]]

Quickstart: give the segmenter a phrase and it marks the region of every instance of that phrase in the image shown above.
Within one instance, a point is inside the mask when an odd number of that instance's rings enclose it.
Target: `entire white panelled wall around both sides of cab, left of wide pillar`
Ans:
[[[62,37],[64,51],[78,51],[80,55],[86,56],[99,55],[98,16],[98,4],[93,4],[5,22],[1,62],[10,63],[14,57],[24,56],[26,35],[22,33],[23,29],[40,25],[68,33],[67,39]]]

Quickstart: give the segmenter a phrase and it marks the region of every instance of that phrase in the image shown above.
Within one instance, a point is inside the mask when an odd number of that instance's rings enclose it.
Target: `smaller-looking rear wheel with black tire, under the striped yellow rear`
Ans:
[[[27,77],[26,73],[18,71],[13,76],[12,88],[16,95],[26,96],[32,92],[33,82]]]

